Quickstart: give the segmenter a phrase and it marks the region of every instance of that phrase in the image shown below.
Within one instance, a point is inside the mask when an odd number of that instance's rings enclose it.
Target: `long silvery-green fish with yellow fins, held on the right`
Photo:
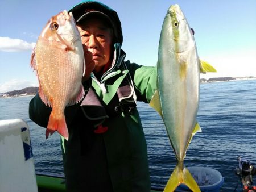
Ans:
[[[181,183],[194,192],[200,191],[184,166],[184,158],[192,136],[201,131],[196,121],[200,72],[216,70],[207,62],[200,62],[192,30],[179,5],[172,5],[164,18],[157,70],[158,90],[150,106],[162,116],[177,158],[177,165],[164,191],[174,191]]]

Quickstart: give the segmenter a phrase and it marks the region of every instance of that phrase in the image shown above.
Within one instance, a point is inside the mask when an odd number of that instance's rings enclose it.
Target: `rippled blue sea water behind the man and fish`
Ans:
[[[28,118],[31,98],[0,98],[0,120],[24,119],[30,126],[36,173],[63,176],[60,137],[55,133],[46,140],[45,129]],[[176,158],[160,116],[146,103],[138,102],[138,110],[147,141],[151,186],[161,189]],[[241,191],[235,174],[237,156],[256,166],[256,80],[201,84],[197,120],[203,132],[193,137],[185,165],[216,169],[224,177],[221,191],[234,191],[237,183]]]

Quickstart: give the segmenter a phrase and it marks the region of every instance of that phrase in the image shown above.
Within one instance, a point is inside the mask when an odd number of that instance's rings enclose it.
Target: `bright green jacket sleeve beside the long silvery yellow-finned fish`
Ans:
[[[130,61],[125,62],[131,78],[134,81],[134,89],[137,94],[137,100],[149,103],[154,95],[157,84],[156,66],[142,66]]]

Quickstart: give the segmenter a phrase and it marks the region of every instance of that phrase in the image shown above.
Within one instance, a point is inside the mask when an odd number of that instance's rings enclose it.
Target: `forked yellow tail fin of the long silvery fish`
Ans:
[[[179,162],[176,165],[174,172],[172,172],[171,177],[164,188],[164,192],[175,191],[177,186],[181,183],[187,185],[193,192],[201,191],[189,170],[183,166],[183,162]]]

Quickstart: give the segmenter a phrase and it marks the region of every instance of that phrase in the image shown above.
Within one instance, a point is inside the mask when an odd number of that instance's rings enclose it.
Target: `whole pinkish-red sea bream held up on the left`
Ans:
[[[72,12],[64,10],[48,21],[32,52],[31,66],[38,76],[40,98],[52,107],[46,139],[57,131],[68,140],[64,109],[85,93],[84,52]]]

